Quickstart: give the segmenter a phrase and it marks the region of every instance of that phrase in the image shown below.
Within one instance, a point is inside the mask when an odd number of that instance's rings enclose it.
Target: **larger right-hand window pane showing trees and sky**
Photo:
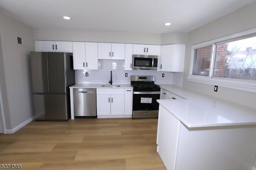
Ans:
[[[256,80],[256,35],[217,44],[213,77]]]

